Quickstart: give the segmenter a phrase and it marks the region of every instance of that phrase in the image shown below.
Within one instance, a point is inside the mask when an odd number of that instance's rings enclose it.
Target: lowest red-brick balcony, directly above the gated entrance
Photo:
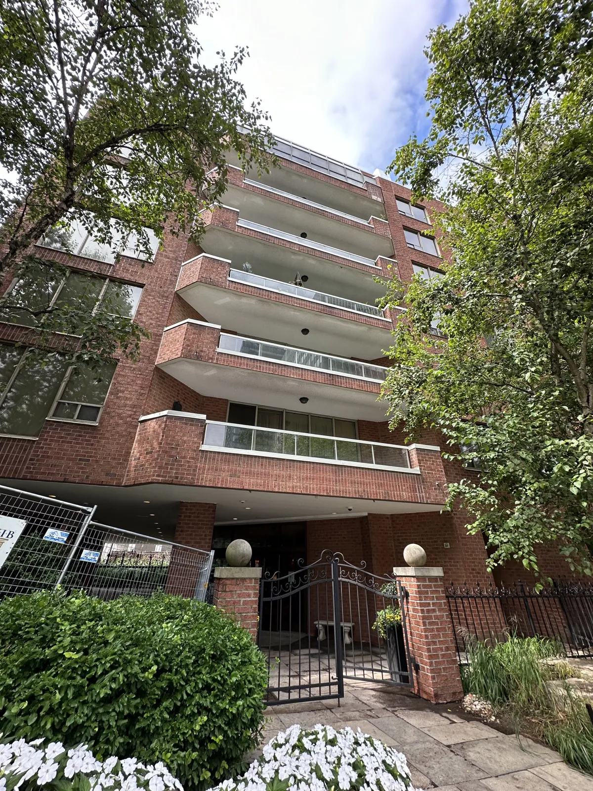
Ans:
[[[151,501],[215,502],[221,524],[439,511],[444,480],[436,446],[291,435],[168,411],[140,418],[126,484]]]

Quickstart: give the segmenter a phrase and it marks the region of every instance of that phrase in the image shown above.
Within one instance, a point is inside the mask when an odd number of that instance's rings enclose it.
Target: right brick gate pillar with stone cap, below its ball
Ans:
[[[407,633],[414,668],[414,692],[431,703],[463,698],[455,635],[444,591],[443,570],[396,567],[406,588]]]

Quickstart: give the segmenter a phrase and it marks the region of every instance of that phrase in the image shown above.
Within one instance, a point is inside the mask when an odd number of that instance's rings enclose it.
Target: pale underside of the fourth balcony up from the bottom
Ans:
[[[379,267],[357,267],[337,263],[312,253],[300,252],[274,241],[248,236],[217,225],[209,225],[200,241],[202,250],[210,255],[229,259],[232,267],[241,269],[251,264],[255,274],[292,282],[298,272],[307,275],[307,287],[337,297],[375,305],[385,290],[372,278],[380,275]]]

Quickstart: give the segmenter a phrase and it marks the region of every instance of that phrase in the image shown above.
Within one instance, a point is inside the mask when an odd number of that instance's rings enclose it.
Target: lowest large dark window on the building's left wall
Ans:
[[[0,433],[38,437],[52,418],[96,423],[107,397],[115,361],[100,371],[76,369],[59,355],[25,364],[28,352],[0,345]]]

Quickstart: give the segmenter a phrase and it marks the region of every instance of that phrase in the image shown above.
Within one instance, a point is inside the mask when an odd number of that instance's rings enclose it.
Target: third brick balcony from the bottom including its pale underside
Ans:
[[[202,253],[181,268],[177,293],[207,321],[256,338],[376,360],[391,343],[391,319],[376,305],[254,272]],[[303,333],[303,330],[306,330]]]

